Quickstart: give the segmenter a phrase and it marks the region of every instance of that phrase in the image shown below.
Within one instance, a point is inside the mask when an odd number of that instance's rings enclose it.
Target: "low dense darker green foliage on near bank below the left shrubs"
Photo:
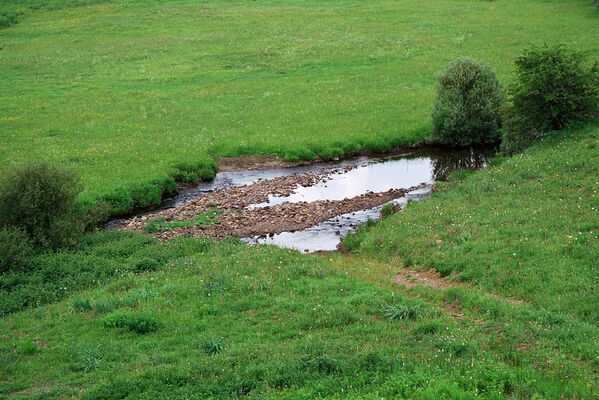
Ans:
[[[120,231],[88,234],[72,250],[34,254],[27,271],[6,272],[0,280],[0,315],[61,300],[74,292],[103,286],[117,276],[155,270],[186,254],[210,251],[215,244],[208,239],[181,239],[161,245],[147,236]],[[231,246],[226,242],[222,245]],[[96,313],[116,307],[102,309],[101,303],[94,304]]]

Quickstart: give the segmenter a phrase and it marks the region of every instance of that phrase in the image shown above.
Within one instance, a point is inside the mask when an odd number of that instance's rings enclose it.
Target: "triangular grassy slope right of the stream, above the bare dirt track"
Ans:
[[[368,231],[357,252],[599,323],[598,122],[449,186]]]

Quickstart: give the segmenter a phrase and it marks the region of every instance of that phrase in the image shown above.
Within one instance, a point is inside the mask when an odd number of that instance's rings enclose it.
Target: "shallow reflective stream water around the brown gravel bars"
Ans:
[[[166,199],[158,212],[154,211],[153,214],[160,215],[160,210],[162,210],[163,215],[170,215],[169,213],[174,213],[172,210],[189,208],[190,204],[201,200],[203,196],[208,198],[210,197],[208,195],[226,194],[227,190],[239,191],[241,187],[243,187],[243,191],[245,191],[245,188],[251,191],[252,187],[257,186],[257,184],[264,186],[270,181],[276,182],[276,178],[316,176],[320,178],[309,184],[304,183],[302,185],[298,183],[294,189],[288,191],[285,195],[268,193],[267,198],[263,196],[263,201],[246,204],[241,211],[235,213],[247,213],[248,218],[251,218],[250,214],[261,213],[269,210],[269,207],[275,211],[280,208],[293,208],[305,204],[308,208],[310,205],[320,204],[324,201],[324,207],[329,207],[327,215],[333,215],[331,218],[325,220],[321,218],[320,221],[315,221],[313,225],[307,228],[293,231],[266,232],[251,237],[240,236],[235,234],[235,231],[230,234],[239,236],[242,241],[248,244],[272,244],[302,252],[331,251],[337,249],[341,239],[348,233],[355,231],[358,226],[365,224],[368,220],[379,219],[383,204],[359,210],[354,207],[351,212],[347,213],[343,212],[342,207],[339,208],[338,212],[331,213],[331,207],[342,206],[343,201],[347,202],[347,199],[363,199],[365,196],[383,196],[384,199],[387,199],[390,192],[395,193],[394,190],[403,190],[403,192],[397,192],[397,196],[392,196],[396,198],[390,201],[402,208],[408,200],[420,200],[428,196],[434,182],[446,180],[454,170],[485,167],[489,157],[493,154],[493,150],[486,149],[460,151],[429,149],[384,157],[360,157],[339,162],[315,163],[290,168],[219,172],[214,180],[201,182],[195,187],[183,189],[177,196]],[[261,216],[263,214],[256,215],[258,217],[254,218],[257,218],[258,221],[254,225],[258,225],[260,220],[265,218]],[[266,215],[266,218],[271,218],[268,216],[269,214]],[[147,218],[149,216],[141,217],[141,220],[147,221]],[[240,218],[243,224],[243,217]],[[286,215],[283,215],[282,218],[286,219]],[[140,217],[137,217],[137,219],[140,219]],[[127,222],[115,220],[108,227],[119,227],[123,224],[126,225]],[[141,226],[139,224],[137,226]],[[284,221],[281,224],[285,226]],[[223,224],[223,228],[225,225]],[[237,228],[238,226],[235,225],[234,227]],[[184,231],[181,234],[205,235],[202,232],[190,233]],[[226,236],[226,234],[223,234],[223,236]]]

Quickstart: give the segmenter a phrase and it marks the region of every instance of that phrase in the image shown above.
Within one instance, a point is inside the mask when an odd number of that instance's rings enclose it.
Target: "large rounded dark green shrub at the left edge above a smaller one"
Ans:
[[[72,244],[83,232],[75,207],[81,191],[73,171],[42,161],[0,174],[0,228],[20,228],[43,248]]]

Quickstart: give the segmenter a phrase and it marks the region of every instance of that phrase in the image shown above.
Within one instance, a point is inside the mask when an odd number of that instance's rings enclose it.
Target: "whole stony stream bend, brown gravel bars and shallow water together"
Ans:
[[[294,168],[218,173],[169,199],[165,208],[122,223],[159,240],[236,236],[304,252],[335,250],[341,238],[394,201],[430,193],[456,169],[478,169],[490,151],[414,152]]]

